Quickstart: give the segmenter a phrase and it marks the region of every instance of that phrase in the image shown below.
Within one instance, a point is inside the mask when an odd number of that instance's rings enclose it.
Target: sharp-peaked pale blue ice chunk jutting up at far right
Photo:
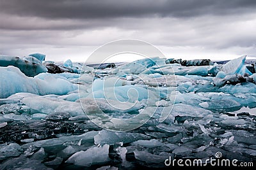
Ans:
[[[232,74],[244,74],[248,73],[252,75],[252,73],[246,68],[244,65],[244,61],[246,60],[246,55],[243,55],[242,57],[239,57],[234,60],[230,60],[226,64],[220,67],[220,71],[223,71],[224,73],[228,75]]]

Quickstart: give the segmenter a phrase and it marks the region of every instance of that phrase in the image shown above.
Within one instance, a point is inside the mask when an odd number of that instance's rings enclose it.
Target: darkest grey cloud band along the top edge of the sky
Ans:
[[[111,18],[111,17],[194,17],[228,15],[254,11],[253,0],[211,1],[81,1],[81,0],[2,0],[2,13],[43,18]]]

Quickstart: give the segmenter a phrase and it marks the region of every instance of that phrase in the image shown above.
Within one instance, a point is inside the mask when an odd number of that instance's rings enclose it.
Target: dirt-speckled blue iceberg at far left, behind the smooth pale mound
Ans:
[[[22,73],[26,74],[26,76],[35,76],[39,73],[44,73],[47,71],[47,68],[41,64],[41,61],[36,59],[35,57],[12,57],[7,55],[0,55],[0,66],[15,66],[22,71]]]

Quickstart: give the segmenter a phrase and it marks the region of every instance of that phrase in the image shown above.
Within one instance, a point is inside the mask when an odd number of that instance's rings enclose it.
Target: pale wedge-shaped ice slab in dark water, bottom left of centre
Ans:
[[[102,162],[108,162],[109,157],[109,145],[94,146],[86,151],[79,151],[74,153],[68,160],[67,163],[72,163],[77,166],[91,166],[93,164],[99,164]]]

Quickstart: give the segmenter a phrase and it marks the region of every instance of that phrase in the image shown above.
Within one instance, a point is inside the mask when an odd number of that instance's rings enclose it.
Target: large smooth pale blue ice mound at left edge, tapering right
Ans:
[[[18,92],[63,95],[77,90],[77,85],[67,80],[54,78],[51,75],[45,77],[44,80],[29,78],[13,66],[0,67],[0,73],[0,98],[6,98]]]

